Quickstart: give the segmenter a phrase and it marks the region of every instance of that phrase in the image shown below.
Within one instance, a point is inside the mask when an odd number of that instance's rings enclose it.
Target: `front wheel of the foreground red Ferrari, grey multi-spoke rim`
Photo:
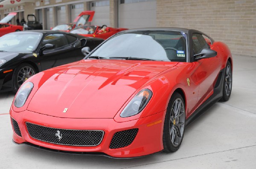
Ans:
[[[163,125],[163,151],[176,152],[180,148],[185,131],[185,104],[182,96],[173,93]]]

